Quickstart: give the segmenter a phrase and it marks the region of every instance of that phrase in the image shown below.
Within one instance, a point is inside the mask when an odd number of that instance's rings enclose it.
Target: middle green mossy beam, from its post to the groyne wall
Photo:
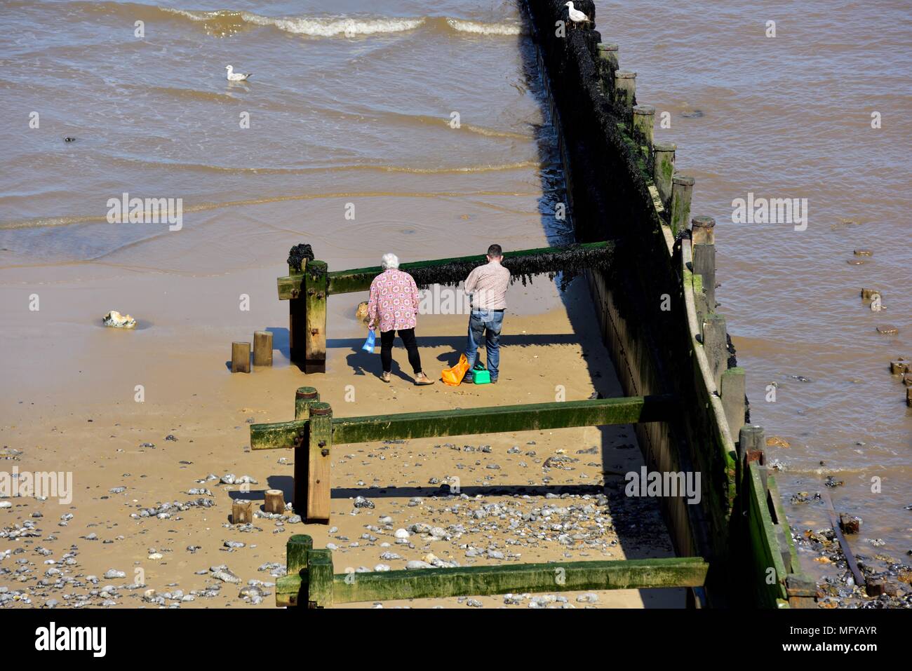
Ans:
[[[333,418],[333,443],[635,424],[663,421],[675,411],[674,397],[650,396]]]

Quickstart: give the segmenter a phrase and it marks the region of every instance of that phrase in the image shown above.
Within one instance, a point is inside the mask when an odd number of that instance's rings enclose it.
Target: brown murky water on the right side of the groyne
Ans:
[[[670,112],[656,137],[677,143],[679,169],[696,178],[692,212],[716,219],[717,300],[747,369],[751,420],[791,445],[768,449],[783,498],[832,475],[845,482],[836,510],[864,521],[854,551],[906,561],[912,409],[889,362],[912,352],[912,8],[736,5],[597,2],[597,24],[637,71],[639,101]],[[733,222],[732,201],[751,192],[807,199],[806,229]],[[862,287],[882,292],[883,311]],[[829,526],[822,505],[786,510],[795,531]]]

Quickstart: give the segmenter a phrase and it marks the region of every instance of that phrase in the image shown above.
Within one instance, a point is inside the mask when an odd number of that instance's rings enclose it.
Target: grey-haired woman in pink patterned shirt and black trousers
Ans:
[[[415,322],[418,315],[418,286],[408,273],[399,270],[396,254],[383,254],[380,263],[383,272],[370,283],[368,301],[368,328],[380,326],[380,379],[389,382],[393,367],[393,338],[399,338],[409,352],[409,364],[415,373],[416,385],[432,385],[434,381],[421,371],[421,357],[415,342]]]

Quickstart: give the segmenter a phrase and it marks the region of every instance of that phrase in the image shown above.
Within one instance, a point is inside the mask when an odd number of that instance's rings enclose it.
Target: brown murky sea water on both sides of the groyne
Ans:
[[[836,508],[864,518],[857,552],[901,559],[912,549],[912,411],[887,366],[912,357],[912,11],[597,7],[640,101],[670,113],[657,139],[677,142],[679,168],[697,178],[694,212],[718,222],[720,310],[748,370],[751,416],[791,444],[770,449],[783,496],[843,480]],[[387,250],[409,261],[567,234],[551,214],[560,171],[513,4],[3,1],[0,26],[0,293],[24,314],[36,286],[63,278],[84,290],[68,296],[103,313],[112,305],[86,297],[130,308],[137,283],[161,275],[171,288],[186,278],[192,294],[194,277],[262,271],[249,288],[228,282],[223,316],[206,305],[206,323],[223,325],[241,292],[275,301],[290,243],[341,268]],[[253,77],[227,82],[229,63]],[[183,199],[181,229],[109,223],[108,201],[124,192]],[[806,198],[806,230],[732,222],[732,201],[749,192]],[[846,263],[858,248],[874,254]],[[884,311],[868,309],[862,286],[883,292]],[[198,308],[181,315],[192,303],[171,296],[159,296],[172,306],[160,326],[174,331]],[[53,334],[18,315],[5,337],[90,337],[71,319],[51,324]],[[898,335],[878,335],[884,324]],[[47,389],[35,374],[47,362],[27,347],[4,364],[5,399]],[[796,529],[826,523],[817,505],[788,511]]]

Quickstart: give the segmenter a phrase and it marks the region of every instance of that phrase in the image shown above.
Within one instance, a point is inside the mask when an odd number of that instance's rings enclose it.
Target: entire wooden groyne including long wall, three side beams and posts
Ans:
[[[576,5],[595,20],[591,0]],[[276,604],[672,586],[699,606],[813,604],[763,429],[749,421],[745,371],[717,311],[715,222],[691,216],[694,180],[676,170],[677,148],[655,140],[656,110],[637,100],[636,73],[621,69],[618,46],[603,43],[594,22],[570,22],[560,0],[525,0],[524,9],[578,243],[508,253],[504,265],[523,279],[586,275],[626,396],[334,418],[316,387],[301,387],[295,419],[252,425],[251,447],[295,450],[295,511],[326,523],[338,445],[630,423],[649,470],[701,474],[699,502],[660,499],[678,557],[337,574],[330,551],[297,535]],[[400,267],[427,286],[458,284],[478,263],[481,256]],[[278,295],[289,301],[292,360],[306,373],[326,370],[327,297],[367,291],[380,272],[330,272],[308,245],[293,249]]]

